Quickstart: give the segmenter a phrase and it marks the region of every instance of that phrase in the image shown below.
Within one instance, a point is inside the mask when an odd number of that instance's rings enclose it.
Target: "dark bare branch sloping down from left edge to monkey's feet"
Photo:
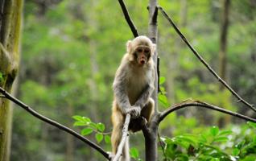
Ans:
[[[82,142],[85,142],[90,147],[93,147],[93,149],[99,151],[101,153],[101,155],[103,155],[106,159],[109,159],[109,154],[106,151],[104,151],[101,147],[99,147],[97,144],[95,144],[94,142],[91,142],[88,138],[85,138],[81,134],[76,133],[76,131],[71,130],[66,126],[61,125],[60,123],[55,122],[55,121],[53,121],[49,118],[46,118],[43,115],[37,113],[34,109],[31,109],[30,106],[24,104],[22,101],[19,101],[17,98],[11,96],[10,93],[7,93],[6,90],[2,89],[2,87],[0,87],[0,93],[2,93],[6,97],[6,99],[14,102],[16,105],[19,105],[23,109],[27,110],[27,112],[32,114],[33,116],[35,116],[35,118],[39,118],[43,122],[47,122],[48,124],[55,126],[60,130],[64,130],[65,132],[72,134],[74,137],[80,139]]]

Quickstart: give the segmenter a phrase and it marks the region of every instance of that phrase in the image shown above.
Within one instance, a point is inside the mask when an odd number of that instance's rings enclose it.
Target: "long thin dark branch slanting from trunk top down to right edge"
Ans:
[[[217,75],[216,72],[214,72],[213,68],[211,68],[209,66],[209,64],[206,63],[206,61],[202,58],[202,56],[200,56],[200,54],[198,52],[196,52],[196,49],[194,49],[194,47],[192,47],[192,45],[188,42],[186,37],[181,33],[179,28],[175,26],[175,23],[172,22],[171,18],[167,15],[167,13],[163,10],[163,8],[161,6],[159,6],[159,10],[161,10],[163,16],[168,20],[168,22],[171,24],[171,26],[174,27],[175,31],[178,33],[178,35],[180,35],[180,38],[184,40],[184,43],[186,43],[188,45],[188,47],[192,50],[194,55],[202,62],[202,64],[204,64],[204,66],[206,68],[209,69],[209,71],[213,74],[213,76],[215,76],[217,78],[217,80],[220,81],[221,84],[225,86],[225,88],[229,89],[229,91],[233,94],[233,96],[237,97],[238,101],[242,101],[242,103],[244,105],[248,106],[250,109],[253,109],[254,112],[256,112],[254,105],[252,105],[252,104],[248,103],[247,101],[245,101],[244,99],[242,99],[242,97],[240,97],[225,81],[223,81],[221,79],[220,76]]]

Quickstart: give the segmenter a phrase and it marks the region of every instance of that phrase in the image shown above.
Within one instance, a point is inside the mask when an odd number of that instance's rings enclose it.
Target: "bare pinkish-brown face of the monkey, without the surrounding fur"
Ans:
[[[134,58],[139,65],[147,64],[151,57],[151,49],[147,46],[138,46],[134,52]]]

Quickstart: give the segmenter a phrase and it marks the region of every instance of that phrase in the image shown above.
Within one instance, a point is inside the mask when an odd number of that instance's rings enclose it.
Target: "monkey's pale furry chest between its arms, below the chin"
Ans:
[[[149,85],[150,73],[149,72],[132,72],[128,76],[127,95],[131,105],[138,100],[142,91]]]

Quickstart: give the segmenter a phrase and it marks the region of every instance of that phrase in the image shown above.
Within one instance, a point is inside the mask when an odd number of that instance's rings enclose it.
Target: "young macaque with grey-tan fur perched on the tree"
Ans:
[[[111,116],[113,155],[117,153],[119,142],[121,142],[126,114],[131,116],[129,130],[135,132],[141,130],[142,120],[144,125],[146,123],[145,118],[147,122],[151,120],[155,105],[151,98],[155,80],[155,68],[152,59],[155,44],[151,42],[151,39],[142,35],[129,40],[126,43],[126,48],[127,52],[122,58],[113,84],[114,102]],[[130,160],[128,138],[120,160]]]

